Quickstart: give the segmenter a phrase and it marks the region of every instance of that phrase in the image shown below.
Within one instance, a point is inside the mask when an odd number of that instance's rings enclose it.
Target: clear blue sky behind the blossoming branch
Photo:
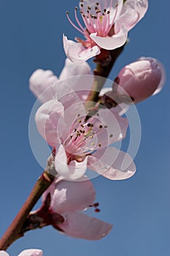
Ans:
[[[23,204],[42,173],[28,140],[28,119],[35,98],[28,89],[34,69],[57,75],[65,59],[63,32],[78,34],[66,19],[77,1],[0,0],[1,183],[0,235]],[[166,67],[166,85],[155,97],[137,105],[142,141],[136,156],[136,175],[126,181],[95,178],[101,213],[96,217],[115,225],[101,241],[82,241],[61,235],[52,227],[27,233],[8,252],[26,248],[45,256],[167,256],[170,255],[169,168],[169,1],[150,0],[145,18],[130,32],[130,43],[109,78],[140,56],[152,56]]]

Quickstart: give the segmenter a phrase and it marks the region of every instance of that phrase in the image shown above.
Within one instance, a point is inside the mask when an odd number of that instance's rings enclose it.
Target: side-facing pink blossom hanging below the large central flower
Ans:
[[[42,208],[46,204],[49,195],[50,206],[46,209],[48,213],[45,212],[44,219],[41,215],[41,219],[43,219],[43,222],[46,222],[46,220],[49,222],[50,219],[50,225],[53,225],[67,236],[98,240],[107,236],[112,229],[112,225],[109,223],[84,214],[87,208],[95,208],[96,212],[99,211],[98,203],[94,203],[96,192],[90,180],[77,182],[55,179],[43,194]],[[42,208],[34,211],[34,214],[39,214]],[[61,217],[63,217],[61,224],[58,224],[56,214],[61,214]]]

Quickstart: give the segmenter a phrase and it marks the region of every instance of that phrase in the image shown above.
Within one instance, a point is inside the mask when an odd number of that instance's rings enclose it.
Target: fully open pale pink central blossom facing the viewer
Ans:
[[[107,148],[125,138],[128,120],[114,109],[104,108],[86,120],[83,90],[74,92],[76,86],[85,88],[83,83],[88,84],[84,77],[81,85],[76,77],[58,81],[55,99],[45,102],[36,112],[39,133],[56,149],[55,170],[72,180],[82,177],[87,167],[110,179],[129,178],[136,170],[131,157],[117,148]]]

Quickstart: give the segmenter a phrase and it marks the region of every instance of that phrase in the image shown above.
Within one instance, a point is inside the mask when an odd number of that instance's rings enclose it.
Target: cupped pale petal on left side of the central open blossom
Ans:
[[[36,127],[47,143],[55,147],[65,128],[63,121],[63,105],[51,99],[43,104],[36,112]]]

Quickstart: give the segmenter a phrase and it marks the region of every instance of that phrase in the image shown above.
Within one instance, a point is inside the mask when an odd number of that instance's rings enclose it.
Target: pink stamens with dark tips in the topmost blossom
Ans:
[[[69,22],[74,26],[75,29],[80,31],[86,39],[90,39],[90,34],[97,33],[99,37],[107,37],[110,29],[112,29],[113,24],[115,23],[115,18],[117,15],[117,5],[112,7],[112,0],[110,1],[109,6],[107,6],[107,0],[104,1],[104,8],[101,7],[101,4],[96,2],[93,7],[85,7],[84,1],[80,1],[80,15],[83,22],[85,23],[85,28],[80,23],[80,20],[77,16],[77,7],[75,7],[74,15],[77,21],[75,25],[72,20],[69,18],[69,12],[66,12]],[[80,41],[80,40],[79,40]]]

